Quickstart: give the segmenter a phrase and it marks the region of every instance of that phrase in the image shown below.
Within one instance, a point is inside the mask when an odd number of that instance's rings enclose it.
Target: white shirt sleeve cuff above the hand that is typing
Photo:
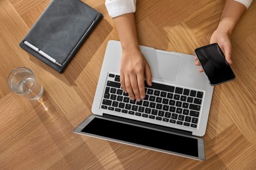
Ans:
[[[105,5],[112,18],[136,11],[136,0],[106,0]]]

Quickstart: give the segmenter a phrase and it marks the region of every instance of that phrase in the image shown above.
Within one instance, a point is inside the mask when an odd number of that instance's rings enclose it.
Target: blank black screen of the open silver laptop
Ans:
[[[81,131],[109,139],[198,157],[198,139],[175,135],[173,133],[165,133],[100,118],[94,118]]]

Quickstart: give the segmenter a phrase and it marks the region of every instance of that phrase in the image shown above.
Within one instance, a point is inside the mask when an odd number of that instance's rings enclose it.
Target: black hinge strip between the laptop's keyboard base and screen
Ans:
[[[119,117],[119,116],[114,116],[114,115],[106,114],[106,113],[103,113],[102,116],[105,117],[105,118],[119,120],[119,121],[122,121],[122,122],[128,122],[128,123],[131,123],[131,124],[139,124],[140,126],[152,127],[154,129],[161,129],[161,130],[171,131],[171,132],[175,132],[175,133],[182,133],[184,135],[192,135],[192,131],[185,131],[185,130],[176,129],[176,128],[173,128],[173,127],[166,127],[166,126],[161,126],[161,125],[156,125],[156,124],[150,124],[148,122],[141,122],[139,120],[133,120],[133,119],[129,119],[129,118],[122,118],[122,117]]]

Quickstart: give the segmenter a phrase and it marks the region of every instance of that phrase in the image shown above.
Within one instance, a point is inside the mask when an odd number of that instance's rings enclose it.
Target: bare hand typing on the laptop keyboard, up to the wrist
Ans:
[[[148,86],[152,86],[152,74],[148,61],[139,48],[123,49],[120,69],[121,87],[129,93],[131,100],[140,101],[145,97],[144,76]]]

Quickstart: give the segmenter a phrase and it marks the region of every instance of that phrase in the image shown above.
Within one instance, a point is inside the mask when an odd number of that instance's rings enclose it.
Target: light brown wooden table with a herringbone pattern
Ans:
[[[0,1],[0,169],[256,169],[256,3],[232,35],[236,80],[215,87],[205,139],[205,161],[73,133],[91,113],[106,44],[118,40],[103,0],[84,0],[104,14],[89,39],[59,74],[18,43],[49,0]],[[140,0],[139,42],[194,54],[209,43],[224,1]],[[28,67],[41,80],[41,101],[10,92],[7,76]],[[196,66],[195,66],[196,67]]]

